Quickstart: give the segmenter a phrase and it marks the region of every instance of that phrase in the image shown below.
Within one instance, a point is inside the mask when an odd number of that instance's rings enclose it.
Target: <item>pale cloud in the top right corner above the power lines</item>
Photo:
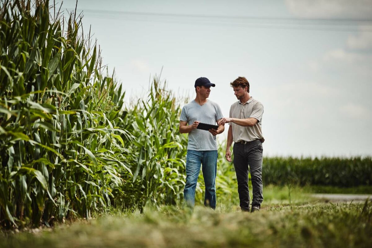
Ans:
[[[285,0],[290,13],[299,18],[369,19],[371,0]]]

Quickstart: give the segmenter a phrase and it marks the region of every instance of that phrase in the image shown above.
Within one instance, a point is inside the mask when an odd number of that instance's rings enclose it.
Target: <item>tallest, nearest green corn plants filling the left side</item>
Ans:
[[[58,8],[57,8],[58,9]],[[53,18],[52,18],[53,16]],[[100,51],[49,1],[1,1],[0,223],[49,225],[90,217],[130,174],[121,88],[102,74]],[[65,30],[63,29],[64,24]]]

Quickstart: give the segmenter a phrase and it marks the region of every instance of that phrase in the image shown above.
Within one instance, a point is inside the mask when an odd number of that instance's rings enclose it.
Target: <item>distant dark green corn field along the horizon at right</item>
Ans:
[[[372,158],[264,158],[264,184],[372,185]]]

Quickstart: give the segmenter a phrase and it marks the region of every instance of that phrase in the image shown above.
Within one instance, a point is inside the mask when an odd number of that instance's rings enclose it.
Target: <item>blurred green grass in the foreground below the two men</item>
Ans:
[[[372,203],[322,203],[309,189],[264,188],[261,212],[234,203],[193,213],[175,206],[0,234],[0,247],[372,247]],[[289,194],[291,193],[291,194]],[[290,196],[290,197],[289,197]]]

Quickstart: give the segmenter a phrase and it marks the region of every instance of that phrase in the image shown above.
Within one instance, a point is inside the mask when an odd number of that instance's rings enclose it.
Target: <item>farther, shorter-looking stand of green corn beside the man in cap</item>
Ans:
[[[182,199],[185,185],[187,136],[180,134],[181,108],[160,77],[154,77],[147,99],[128,106],[123,128],[136,137],[126,144],[125,160],[133,176],[121,171],[126,181],[115,194],[117,204],[176,204]]]

